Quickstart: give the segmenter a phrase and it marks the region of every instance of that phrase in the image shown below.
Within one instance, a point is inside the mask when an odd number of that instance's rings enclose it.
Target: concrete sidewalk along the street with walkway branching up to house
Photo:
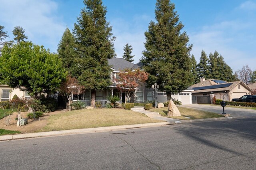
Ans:
[[[143,110],[142,110],[143,108]],[[0,136],[0,141],[2,140],[14,140],[14,139],[24,139],[24,138],[36,138],[36,137],[45,137],[45,136],[61,136],[61,135],[70,135],[70,134],[86,134],[86,133],[95,133],[95,132],[109,132],[115,130],[124,130],[130,128],[143,128],[143,127],[158,127],[164,125],[174,125],[179,123],[193,123],[193,122],[202,122],[202,121],[217,121],[224,119],[240,118],[240,117],[220,117],[220,118],[208,118],[208,119],[194,119],[194,120],[179,120],[172,119],[168,117],[162,117],[159,113],[145,111],[144,107],[135,107],[132,109],[140,113],[144,113],[148,117],[153,119],[158,119],[166,122],[161,123],[145,123],[145,124],[136,124],[136,125],[122,125],[122,126],[113,126],[113,127],[98,127],[98,128],[83,128],[83,129],[72,129],[72,130],[59,130],[51,132],[37,132],[37,133],[24,133],[24,134],[12,134]]]

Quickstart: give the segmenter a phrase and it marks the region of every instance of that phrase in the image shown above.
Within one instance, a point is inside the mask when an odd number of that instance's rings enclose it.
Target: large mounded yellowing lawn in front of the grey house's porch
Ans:
[[[38,130],[38,132],[156,122],[163,121],[149,118],[142,113],[137,113],[131,110],[83,109],[50,116],[47,120],[46,127]]]

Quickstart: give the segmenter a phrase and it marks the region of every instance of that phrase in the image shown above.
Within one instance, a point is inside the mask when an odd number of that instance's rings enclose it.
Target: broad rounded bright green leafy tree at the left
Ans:
[[[41,93],[50,94],[60,87],[66,71],[58,55],[32,42],[20,42],[2,49],[0,75],[10,87],[39,98]]]

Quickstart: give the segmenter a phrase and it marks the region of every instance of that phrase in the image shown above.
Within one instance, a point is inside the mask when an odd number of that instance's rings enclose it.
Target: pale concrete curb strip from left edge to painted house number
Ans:
[[[112,130],[122,130],[129,128],[142,128],[142,127],[157,127],[162,125],[173,125],[175,122],[160,122],[160,123],[145,123],[136,125],[122,125],[113,127],[98,127],[98,128],[83,128],[83,129],[71,129],[71,130],[58,130],[51,132],[36,132],[36,133],[24,133],[24,134],[13,134],[0,136],[0,141],[4,140],[14,140],[14,139],[25,139],[25,138],[36,138],[36,137],[46,137],[46,136],[60,136],[68,134],[86,134],[94,132],[108,132]]]

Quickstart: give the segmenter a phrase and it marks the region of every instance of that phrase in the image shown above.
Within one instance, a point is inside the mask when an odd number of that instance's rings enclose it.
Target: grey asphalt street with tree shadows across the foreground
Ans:
[[[255,170],[256,118],[0,142],[0,169]]]

